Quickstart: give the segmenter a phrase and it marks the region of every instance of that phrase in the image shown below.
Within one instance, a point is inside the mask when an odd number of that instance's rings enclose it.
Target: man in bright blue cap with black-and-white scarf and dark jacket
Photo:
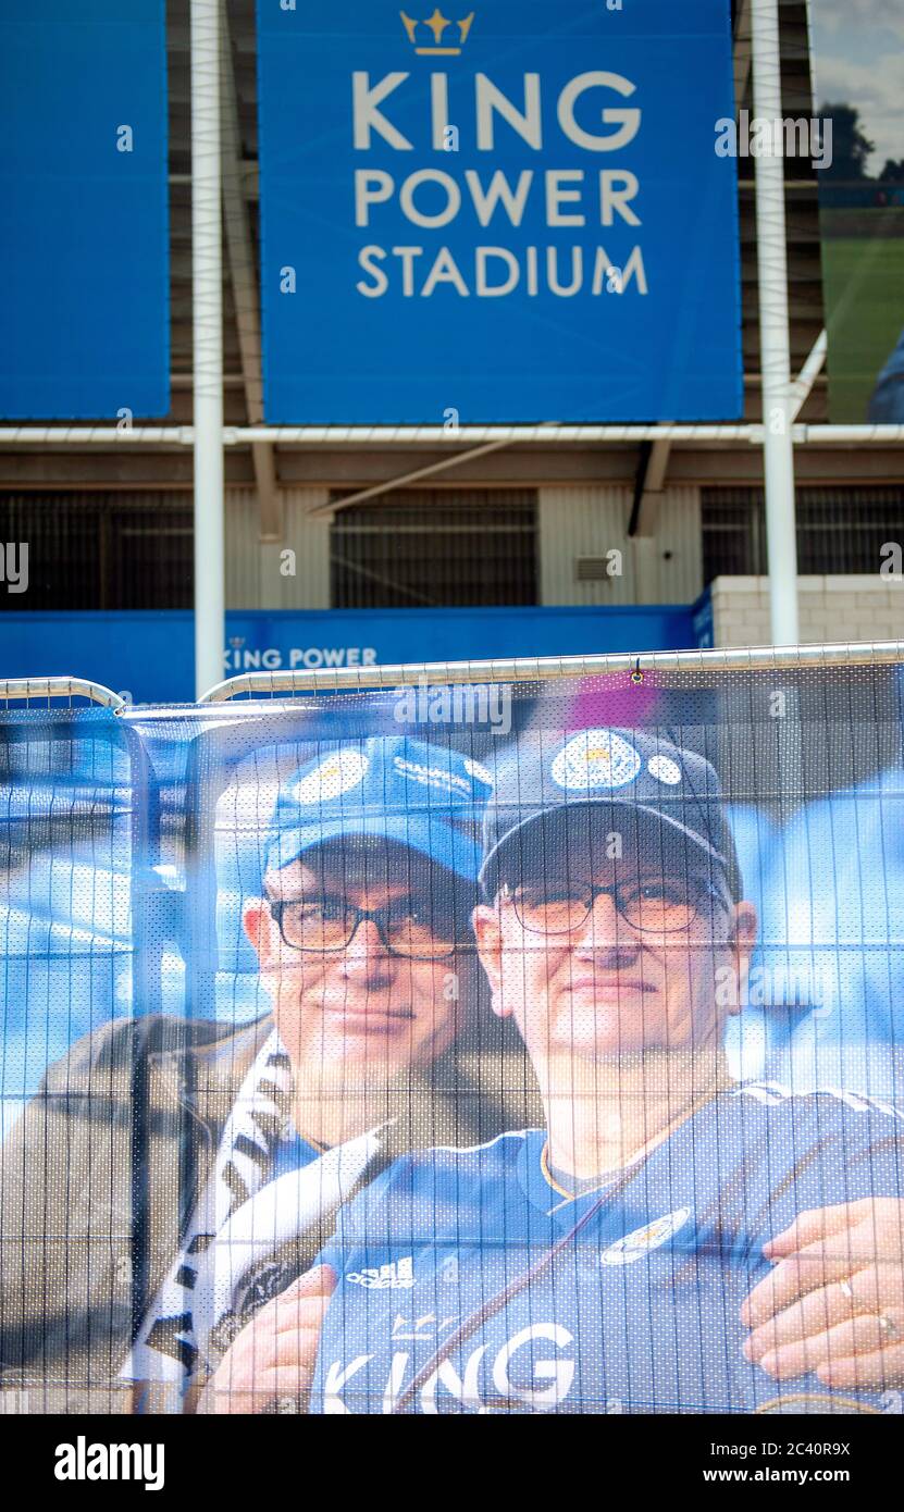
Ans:
[[[432,1066],[467,1012],[488,791],[470,758],[395,736],[290,771],[243,915],[272,1013],[115,1022],[50,1069],[8,1142],[5,1383],[47,1380],[45,1411],[178,1408],[339,1204],[443,1137]],[[53,1238],[23,1246],[35,1211]]]

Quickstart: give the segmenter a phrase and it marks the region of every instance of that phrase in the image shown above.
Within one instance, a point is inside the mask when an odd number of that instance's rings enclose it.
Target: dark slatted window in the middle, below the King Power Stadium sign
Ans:
[[[330,532],[333,608],[537,603],[537,532],[532,488],[422,488],[349,505]]]

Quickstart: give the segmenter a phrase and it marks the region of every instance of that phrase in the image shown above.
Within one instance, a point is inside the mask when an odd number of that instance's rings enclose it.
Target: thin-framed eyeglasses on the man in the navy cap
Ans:
[[[571,934],[587,924],[594,901],[608,894],[617,913],[639,934],[676,934],[688,930],[707,898],[726,907],[724,894],[703,877],[658,877],[647,881],[621,881],[612,888],[590,885],[555,891],[540,883],[503,888],[505,901],[514,906],[519,922],[537,934]]]

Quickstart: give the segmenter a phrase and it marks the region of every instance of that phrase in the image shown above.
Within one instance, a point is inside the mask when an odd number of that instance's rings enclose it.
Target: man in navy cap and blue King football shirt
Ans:
[[[496,771],[481,881],[493,1007],[546,1126],[413,1154],[349,1202],[259,1320],[293,1346],[274,1382],[327,1414],[880,1411],[842,1367],[868,1358],[872,1385],[902,1314],[863,1285],[874,1250],[847,1226],[818,1326],[792,1331],[794,1379],[742,1320],[798,1214],[898,1196],[901,1114],[730,1083],[756,915],[709,762],[653,733],[523,738]],[[899,1249],[890,1264],[899,1279]]]

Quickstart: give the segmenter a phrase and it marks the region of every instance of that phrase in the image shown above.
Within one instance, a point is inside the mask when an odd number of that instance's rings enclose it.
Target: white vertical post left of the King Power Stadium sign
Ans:
[[[225,644],[219,0],[192,0],[192,346],[195,691],[222,677]]]

